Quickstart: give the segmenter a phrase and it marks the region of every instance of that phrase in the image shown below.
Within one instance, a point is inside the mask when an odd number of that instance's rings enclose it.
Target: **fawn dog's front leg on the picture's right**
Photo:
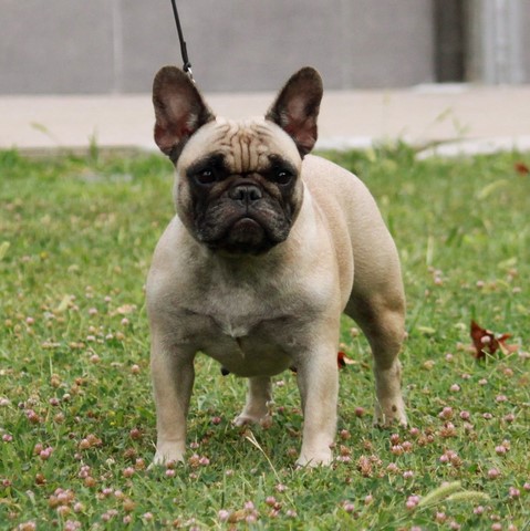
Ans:
[[[330,465],[336,430],[339,372],[336,348],[308,353],[297,364],[297,377],[304,416],[301,466]]]

